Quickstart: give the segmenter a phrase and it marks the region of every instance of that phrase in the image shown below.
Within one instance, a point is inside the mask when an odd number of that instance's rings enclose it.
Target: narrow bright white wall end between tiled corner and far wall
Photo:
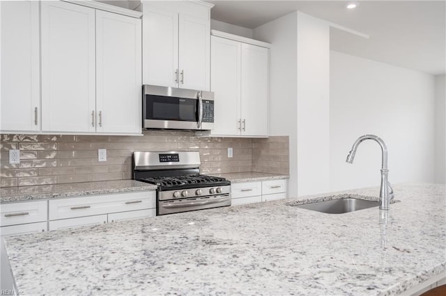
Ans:
[[[298,196],[330,190],[330,26],[298,13]]]

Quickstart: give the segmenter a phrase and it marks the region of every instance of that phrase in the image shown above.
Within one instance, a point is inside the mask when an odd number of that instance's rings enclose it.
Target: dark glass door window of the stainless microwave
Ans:
[[[146,94],[146,120],[197,122],[197,99]]]

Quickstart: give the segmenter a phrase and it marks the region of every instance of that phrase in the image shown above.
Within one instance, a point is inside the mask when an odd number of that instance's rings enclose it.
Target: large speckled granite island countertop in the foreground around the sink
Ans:
[[[25,294],[398,295],[446,270],[445,186],[394,191],[390,211],[285,199],[7,237],[6,249]]]

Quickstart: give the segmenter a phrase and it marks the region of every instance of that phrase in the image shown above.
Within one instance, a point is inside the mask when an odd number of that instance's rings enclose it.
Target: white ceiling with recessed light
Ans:
[[[330,33],[332,50],[429,74],[446,73],[446,0],[440,1],[207,1],[211,18],[256,28],[300,10],[370,36],[338,29]]]

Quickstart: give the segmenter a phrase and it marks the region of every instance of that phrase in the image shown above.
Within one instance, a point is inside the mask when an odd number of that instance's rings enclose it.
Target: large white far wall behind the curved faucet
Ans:
[[[379,186],[381,151],[363,142],[355,161],[353,142],[372,133],[389,151],[391,183],[432,183],[434,77],[364,58],[330,53],[330,191]]]

